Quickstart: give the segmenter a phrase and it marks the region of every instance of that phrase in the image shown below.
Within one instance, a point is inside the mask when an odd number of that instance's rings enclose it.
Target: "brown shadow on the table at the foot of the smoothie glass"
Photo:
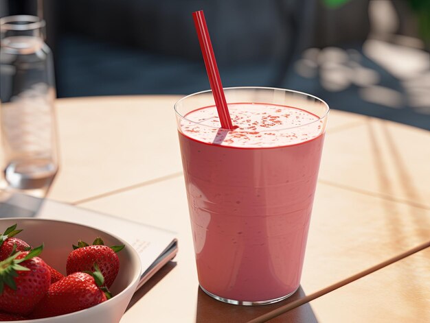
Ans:
[[[218,322],[248,322],[258,316],[266,314],[274,309],[284,306],[290,302],[306,296],[302,287],[293,296],[275,304],[264,306],[247,307],[232,305],[214,300],[200,288],[197,292],[196,323],[218,323]],[[294,322],[294,323],[318,323],[310,304],[304,304],[293,311],[288,311],[270,322]]]

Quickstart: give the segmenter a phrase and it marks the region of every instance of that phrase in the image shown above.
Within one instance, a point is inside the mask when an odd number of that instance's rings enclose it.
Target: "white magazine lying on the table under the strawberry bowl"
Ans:
[[[142,262],[142,286],[177,253],[176,234],[127,219],[77,206],[14,194],[0,204],[0,217],[41,217],[93,226],[124,239],[135,248]]]

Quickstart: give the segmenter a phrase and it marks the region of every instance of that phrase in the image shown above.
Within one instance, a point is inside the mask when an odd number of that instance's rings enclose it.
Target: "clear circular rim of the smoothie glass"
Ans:
[[[233,86],[233,87],[227,87],[227,88],[223,88],[223,89],[224,90],[261,89],[261,90],[278,90],[278,91],[284,91],[284,92],[288,92],[288,93],[297,93],[299,95],[304,95],[306,97],[312,97],[313,99],[315,99],[315,101],[321,102],[321,104],[323,104],[326,107],[326,109],[327,109],[324,112],[324,115],[322,115],[321,117],[316,116],[316,117],[318,117],[318,119],[310,121],[308,123],[304,123],[302,125],[294,125],[293,127],[286,127],[286,128],[276,129],[276,130],[270,130],[270,129],[260,130],[260,132],[268,132],[268,131],[278,132],[278,131],[282,131],[282,130],[290,130],[290,129],[295,129],[295,128],[301,128],[301,127],[304,127],[306,125],[311,125],[311,124],[313,124],[315,122],[319,122],[321,120],[324,120],[328,116],[328,113],[330,112],[330,107],[328,106],[328,104],[327,104],[326,101],[324,101],[323,99],[320,99],[319,97],[316,97],[315,95],[311,95],[311,94],[300,92],[300,91],[288,90],[286,88],[272,88],[270,86]],[[199,94],[210,93],[210,92],[212,92],[212,90],[199,91],[199,92],[196,92],[196,93],[192,93],[192,94],[186,95],[185,97],[182,97],[181,99],[179,99],[178,101],[175,102],[175,104],[174,104],[174,112],[177,114],[178,117],[180,117],[181,119],[184,119],[184,120],[186,120],[186,121],[188,121],[190,123],[194,123],[196,125],[207,127],[207,128],[220,129],[220,127],[214,127],[212,125],[202,125],[201,123],[198,123],[196,121],[192,121],[192,120],[188,119],[187,117],[181,115],[181,113],[179,113],[179,111],[178,111],[178,105],[181,103],[181,101],[183,101],[185,99],[188,99],[189,97],[194,97],[194,96],[199,95]],[[227,102],[227,104],[228,104],[228,102]],[[297,108],[299,108],[299,107],[297,107]],[[306,109],[302,109],[302,110],[306,110]],[[238,128],[238,129],[235,129],[234,131],[241,132],[241,131],[248,131],[248,130],[240,130],[240,128]]]

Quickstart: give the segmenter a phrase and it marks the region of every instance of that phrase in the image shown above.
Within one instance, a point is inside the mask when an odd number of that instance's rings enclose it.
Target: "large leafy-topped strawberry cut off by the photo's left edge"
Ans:
[[[45,296],[51,273],[38,257],[43,246],[18,252],[0,263],[0,311],[26,315]]]

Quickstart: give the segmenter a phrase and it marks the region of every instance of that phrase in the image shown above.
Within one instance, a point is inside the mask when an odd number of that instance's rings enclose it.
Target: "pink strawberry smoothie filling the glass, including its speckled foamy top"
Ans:
[[[228,300],[282,298],[299,287],[324,127],[288,106],[229,112],[234,131],[214,106],[179,124],[199,283]]]

